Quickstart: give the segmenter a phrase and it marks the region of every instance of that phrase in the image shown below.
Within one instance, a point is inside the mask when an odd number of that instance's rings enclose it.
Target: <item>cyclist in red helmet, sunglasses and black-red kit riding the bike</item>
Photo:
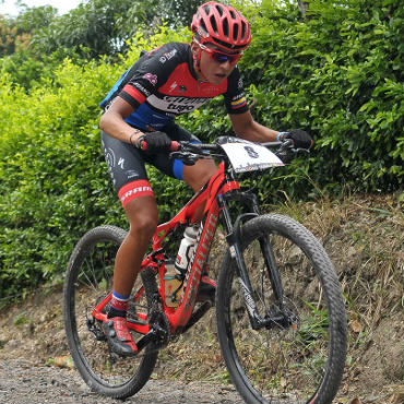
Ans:
[[[103,324],[111,350],[122,356],[138,352],[126,314],[142,258],[158,222],[145,163],[185,180],[193,191],[216,171],[209,159],[193,166],[169,159],[171,140],[200,142],[175,123],[175,117],[224,95],[237,136],[256,142],[290,138],[300,147],[312,143],[305,131],[278,132],[251,117],[237,68],[251,40],[250,25],[241,13],[210,1],[198,8],[191,29],[191,44],[170,43],[141,56],[100,104],[103,150],[130,223],[116,257],[112,299]],[[209,289],[209,285],[202,282],[203,288]]]

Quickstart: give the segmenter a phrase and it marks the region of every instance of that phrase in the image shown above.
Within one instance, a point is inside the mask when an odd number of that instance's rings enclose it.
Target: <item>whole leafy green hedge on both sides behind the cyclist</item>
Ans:
[[[294,162],[276,178],[263,176],[263,201],[280,189],[305,198],[316,189],[402,187],[401,3],[312,1],[307,20],[295,5],[273,4],[246,10],[253,41],[240,68],[252,114],[274,129],[306,129],[316,145],[310,161]],[[162,27],[150,40],[139,34],[119,63],[78,66],[67,59],[55,79],[47,75],[29,92],[2,72],[0,298],[61,275],[74,242],[88,228],[126,226],[100,151],[98,104],[141,49],[189,39],[188,29]],[[179,122],[206,141],[231,133],[222,99]],[[179,192],[178,181],[154,169],[150,177],[166,219],[190,193]]]

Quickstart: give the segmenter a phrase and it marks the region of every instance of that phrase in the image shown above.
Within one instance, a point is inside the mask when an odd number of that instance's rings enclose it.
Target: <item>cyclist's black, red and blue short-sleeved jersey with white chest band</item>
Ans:
[[[218,95],[224,95],[228,114],[248,110],[237,67],[219,85],[199,82],[190,45],[170,43],[143,55],[122,74],[100,107],[107,109],[120,96],[135,108],[126,121],[153,131]]]

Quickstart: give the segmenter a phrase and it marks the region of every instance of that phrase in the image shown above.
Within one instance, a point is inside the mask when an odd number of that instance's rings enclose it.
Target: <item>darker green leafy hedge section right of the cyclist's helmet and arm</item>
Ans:
[[[302,128],[316,145],[304,169],[324,189],[390,191],[403,183],[404,9],[395,0],[264,1],[242,60],[257,119]],[[259,55],[259,57],[257,57]],[[295,171],[297,163],[292,166]],[[307,180],[287,181],[301,194]],[[276,183],[276,187],[278,183]],[[311,187],[310,187],[311,188]],[[283,188],[285,189],[285,187]]]

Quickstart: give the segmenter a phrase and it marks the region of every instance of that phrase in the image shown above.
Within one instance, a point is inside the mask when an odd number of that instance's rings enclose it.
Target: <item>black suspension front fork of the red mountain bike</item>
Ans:
[[[260,316],[257,304],[252,294],[252,287],[250,283],[250,277],[248,275],[246,262],[242,256],[241,249],[241,224],[253,217],[259,216],[260,206],[256,194],[237,192],[237,193],[227,193],[225,195],[218,195],[218,204],[222,209],[223,216],[225,218],[225,225],[227,230],[227,242],[229,246],[229,251],[231,258],[236,262],[237,268],[237,277],[242,290],[245,298],[246,308],[250,318],[251,326],[253,330],[259,330],[263,326],[271,328],[274,322],[274,318],[269,316],[269,313],[262,313]],[[230,213],[227,206],[228,200],[237,200],[240,202],[247,202],[250,206],[252,213],[241,214],[237,217],[235,224],[231,222]],[[268,242],[269,236],[262,236],[259,238],[260,247],[262,254],[264,257],[265,268],[269,272],[269,277],[272,285],[272,290],[276,299],[276,306],[280,309],[280,312],[283,311],[284,307],[284,292],[282,286],[282,280],[280,272],[277,271],[276,260],[271,243]],[[280,313],[278,312],[278,313]],[[275,320],[276,321],[276,320]],[[277,321],[280,317],[277,316]],[[283,321],[282,321],[283,322]],[[285,324],[286,325],[286,324]]]

